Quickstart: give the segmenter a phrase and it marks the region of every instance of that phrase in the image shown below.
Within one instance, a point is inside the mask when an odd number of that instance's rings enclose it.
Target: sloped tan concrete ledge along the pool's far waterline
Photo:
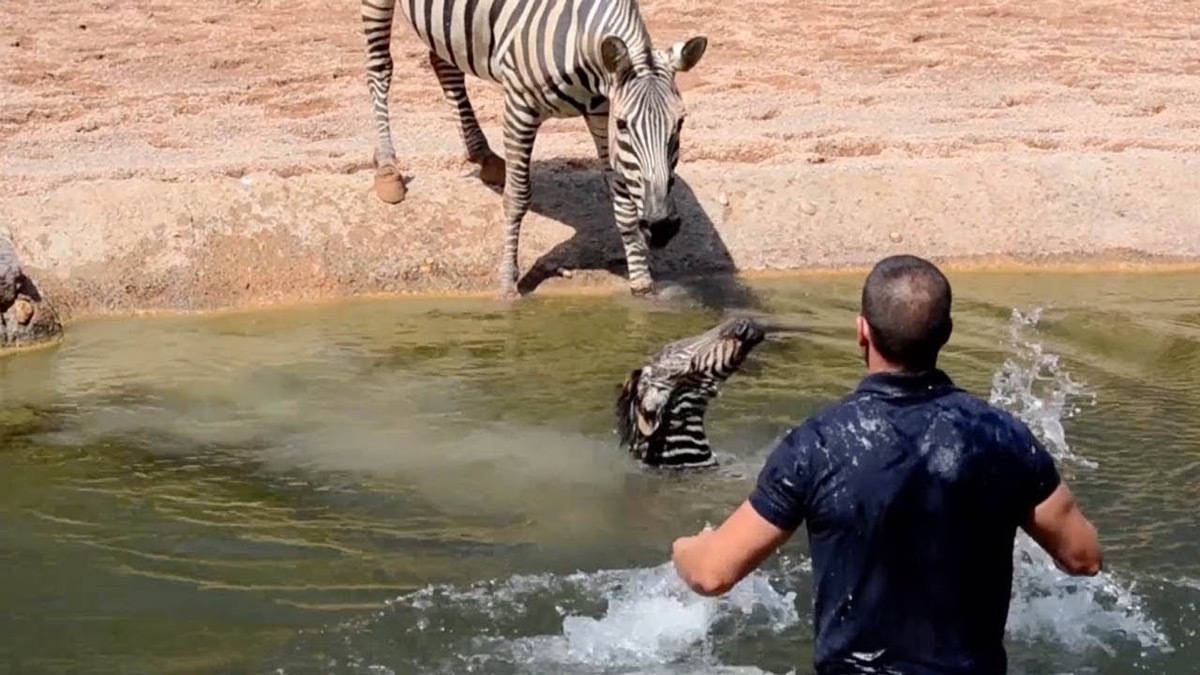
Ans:
[[[943,262],[1195,261],[1198,169],[1195,156],[1157,151],[695,162],[677,185],[684,229],[654,271],[866,267],[900,251]],[[415,175],[397,205],[371,186],[362,171],[90,181],[2,199],[0,222],[65,319],[494,289],[497,193],[461,172]],[[624,291],[594,166],[535,163],[521,265],[582,271],[534,293]]]

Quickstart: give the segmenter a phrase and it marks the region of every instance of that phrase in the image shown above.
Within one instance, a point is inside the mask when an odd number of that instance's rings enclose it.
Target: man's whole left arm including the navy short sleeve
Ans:
[[[725,595],[781,546],[804,519],[806,425],[772,450],[750,496],[716,530],[671,546],[676,572],[702,596]]]

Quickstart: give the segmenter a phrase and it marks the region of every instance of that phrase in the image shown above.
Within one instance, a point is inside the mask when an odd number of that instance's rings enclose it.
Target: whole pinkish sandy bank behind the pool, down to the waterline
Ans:
[[[662,273],[1200,257],[1200,23],[1178,0],[643,0],[709,48]],[[65,317],[494,287],[500,198],[398,26],[402,204],[372,192],[359,4],[6,2],[0,227]],[[500,143],[500,96],[469,84]],[[622,257],[580,120],[535,150],[522,269]],[[544,288],[600,283],[608,273]],[[539,288],[538,292],[542,292]]]

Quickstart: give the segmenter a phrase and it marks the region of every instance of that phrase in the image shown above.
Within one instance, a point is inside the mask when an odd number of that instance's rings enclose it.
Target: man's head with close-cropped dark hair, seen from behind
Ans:
[[[937,365],[950,339],[950,282],[917,256],[889,256],[863,283],[858,345],[872,370],[919,372]],[[874,358],[872,358],[874,356]]]

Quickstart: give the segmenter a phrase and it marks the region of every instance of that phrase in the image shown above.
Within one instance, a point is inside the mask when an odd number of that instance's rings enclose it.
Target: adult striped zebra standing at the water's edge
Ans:
[[[388,112],[395,0],[362,0],[367,84],[376,120],[376,193],[403,201]],[[703,36],[655,49],[636,0],[406,0],[403,13],[458,113],[460,136],[480,179],[504,186],[500,294],[517,294],[517,243],[529,209],[529,157],[551,118],[583,117],[625,247],[629,287],[653,289],[648,247],[679,231],[671,199],[685,117],[674,74],[691,70]],[[504,159],[488,147],[467,96],[466,73],[504,89]]]

